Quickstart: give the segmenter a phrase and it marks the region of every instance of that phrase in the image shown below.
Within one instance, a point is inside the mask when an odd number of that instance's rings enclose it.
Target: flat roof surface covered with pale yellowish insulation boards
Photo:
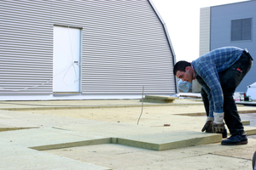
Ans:
[[[248,144],[224,146],[201,99],[0,101],[0,169],[250,169],[256,107],[237,108]]]

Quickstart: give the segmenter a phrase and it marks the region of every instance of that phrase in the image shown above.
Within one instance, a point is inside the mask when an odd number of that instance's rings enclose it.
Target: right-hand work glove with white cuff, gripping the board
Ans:
[[[224,133],[224,112],[216,113],[213,112],[214,121],[212,123],[213,133]]]

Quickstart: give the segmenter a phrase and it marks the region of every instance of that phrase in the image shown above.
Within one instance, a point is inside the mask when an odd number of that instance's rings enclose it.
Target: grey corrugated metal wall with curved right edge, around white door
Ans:
[[[1,95],[52,94],[54,25],[83,29],[83,94],[175,93],[172,51],[147,0],[0,3]]]

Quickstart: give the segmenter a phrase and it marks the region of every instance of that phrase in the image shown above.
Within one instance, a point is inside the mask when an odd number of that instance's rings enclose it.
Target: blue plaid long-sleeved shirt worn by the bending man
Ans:
[[[240,59],[243,49],[235,47],[217,48],[192,61],[196,77],[201,77],[202,88],[209,99],[209,116],[214,112],[223,112],[223,92],[219,75]]]

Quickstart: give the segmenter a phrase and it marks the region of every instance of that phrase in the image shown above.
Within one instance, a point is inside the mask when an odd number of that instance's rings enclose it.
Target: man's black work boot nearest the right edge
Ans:
[[[247,133],[232,135],[228,139],[224,139],[221,144],[224,145],[236,145],[236,144],[247,144]]]

